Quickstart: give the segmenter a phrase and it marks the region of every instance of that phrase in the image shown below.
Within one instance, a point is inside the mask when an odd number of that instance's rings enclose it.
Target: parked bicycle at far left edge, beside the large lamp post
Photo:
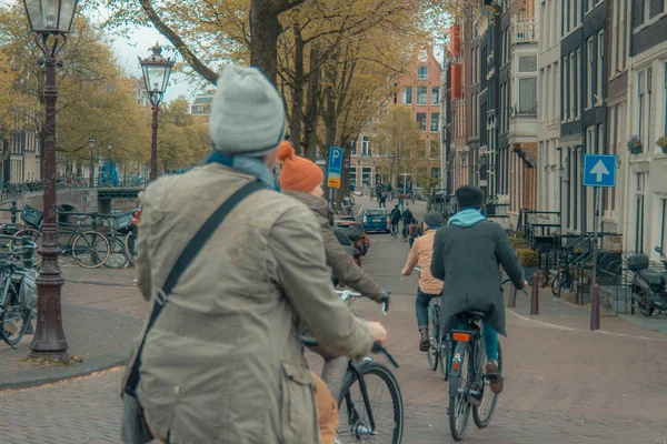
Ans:
[[[7,239],[9,236],[2,235]],[[12,236],[14,238],[14,236]],[[12,241],[18,241],[14,238]],[[32,252],[37,244],[31,241],[22,241],[20,248],[11,249],[11,254],[22,256],[23,264],[8,258],[0,259],[0,281],[2,293],[0,293],[0,336],[2,341],[12,349],[21,342],[32,319],[32,307],[28,304],[28,297],[37,303],[37,287],[34,285],[36,273],[32,270]],[[23,289],[26,279],[32,280],[32,294],[27,294]],[[28,283],[26,282],[26,285]]]

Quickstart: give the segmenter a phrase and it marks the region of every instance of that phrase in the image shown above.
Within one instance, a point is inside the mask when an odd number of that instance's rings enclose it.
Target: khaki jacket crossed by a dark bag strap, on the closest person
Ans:
[[[250,180],[209,164],[140,194],[145,297],[209,215]],[[372,345],[368,327],[334,292],[311,211],[262,190],[218,228],[147,337],[137,393],[151,428],[171,444],[319,444],[301,322],[344,355],[365,355]]]

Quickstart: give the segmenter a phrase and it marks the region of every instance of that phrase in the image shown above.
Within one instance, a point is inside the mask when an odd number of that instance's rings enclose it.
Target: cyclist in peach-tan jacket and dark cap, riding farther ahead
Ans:
[[[417,290],[417,301],[415,311],[417,312],[417,325],[419,327],[419,350],[428,351],[430,341],[428,336],[428,304],[431,297],[440,296],[444,282],[434,278],[430,273],[430,263],[434,254],[434,239],[436,231],[442,226],[442,216],[440,213],[431,211],[424,218],[424,235],[415,239],[410,249],[410,255],[404,266],[404,276],[412,274],[412,270],[418,265],[419,289]]]

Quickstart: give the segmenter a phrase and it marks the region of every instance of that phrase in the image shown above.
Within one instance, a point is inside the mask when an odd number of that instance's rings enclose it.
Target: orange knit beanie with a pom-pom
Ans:
[[[295,149],[288,141],[282,141],[278,147],[278,160],[282,163],[280,170],[282,191],[309,193],[325,180],[322,170],[308,159],[295,154]]]

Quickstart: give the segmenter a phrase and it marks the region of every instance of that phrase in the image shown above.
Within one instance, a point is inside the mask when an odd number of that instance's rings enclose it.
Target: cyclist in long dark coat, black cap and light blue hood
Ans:
[[[451,216],[449,225],[436,233],[430,265],[434,278],[445,281],[440,305],[442,333],[447,334],[456,326],[459,314],[469,311],[487,313],[484,323],[488,356],[486,373],[497,376],[490,385],[494,393],[500,393],[502,377],[498,369],[498,333],[507,336],[507,332],[499,265],[517,290],[522,290],[528,283],[502,228],[487,221],[479,212],[484,204],[481,190],[461,186],[456,190],[456,199],[460,210]]]

